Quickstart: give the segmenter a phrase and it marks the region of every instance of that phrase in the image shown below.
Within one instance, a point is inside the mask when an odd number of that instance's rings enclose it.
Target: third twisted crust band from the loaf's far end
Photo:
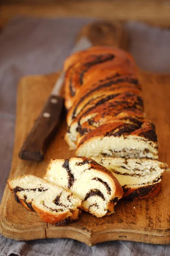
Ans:
[[[129,90],[131,90],[129,92]],[[92,98],[92,99],[91,99]],[[142,95],[137,88],[119,88],[118,90],[109,90],[107,92],[96,91],[95,96],[86,97],[78,107],[71,108],[67,118],[68,123],[72,120],[82,122],[82,119],[93,113],[111,115],[126,110],[139,110],[143,112]],[[101,112],[102,111],[102,112]],[[134,112],[134,111],[133,111]]]

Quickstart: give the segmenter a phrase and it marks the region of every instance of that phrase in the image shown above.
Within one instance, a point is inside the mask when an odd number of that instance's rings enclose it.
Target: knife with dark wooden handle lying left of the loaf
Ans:
[[[93,44],[87,37],[79,39],[71,53],[86,49]],[[64,98],[60,90],[64,82],[64,72],[56,81],[51,95],[45,102],[41,113],[37,117],[33,128],[20,149],[19,157],[23,160],[42,162],[45,151],[61,125],[64,115]]]

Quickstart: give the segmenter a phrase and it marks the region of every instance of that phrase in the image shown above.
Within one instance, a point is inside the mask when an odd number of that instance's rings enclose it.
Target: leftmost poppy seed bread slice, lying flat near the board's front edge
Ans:
[[[7,182],[15,200],[27,210],[37,212],[42,221],[68,224],[81,214],[79,198],[44,179],[23,175]]]

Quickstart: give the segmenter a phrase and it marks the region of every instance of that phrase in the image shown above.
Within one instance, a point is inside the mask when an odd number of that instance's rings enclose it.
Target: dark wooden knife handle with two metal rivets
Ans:
[[[23,143],[19,157],[23,160],[42,162],[47,146],[61,125],[63,115],[63,97],[51,95]]]

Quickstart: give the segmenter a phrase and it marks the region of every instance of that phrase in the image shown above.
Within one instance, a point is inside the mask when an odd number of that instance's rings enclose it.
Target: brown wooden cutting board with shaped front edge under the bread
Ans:
[[[18,152],[47,99],[57,74],[26,76],[21,79],[17,97],[14,154],[9,178],[22,174],[42,177],[51,158],[73,157],[64,134],[65,122],[48,148],[42,163],[20,160]],[[170,165],[170,75],[140,72],[147,118],[155,124],[159,136],[159,160]],[[170,172],[162,179],[161,193],[142,201],[121,201],[111,216],[96,218],[82,212],[79,220],[64,227],[40,221],[14,201],[6,187],[0,207],[0,232],[15,240],[71,238],[94,245],[103,241],[126,240],[153,244],[170,243]]]

